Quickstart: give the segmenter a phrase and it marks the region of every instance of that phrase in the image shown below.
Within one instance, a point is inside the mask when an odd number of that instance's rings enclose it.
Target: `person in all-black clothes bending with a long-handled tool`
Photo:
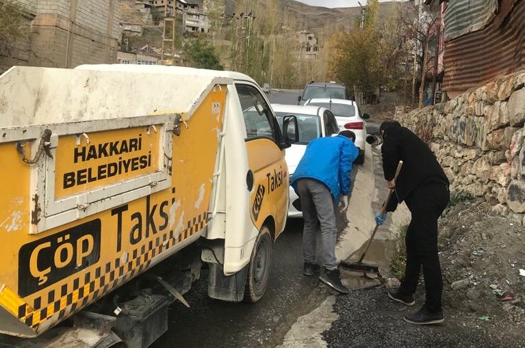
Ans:
[[[441,308],[443,280],[437,255],[437,219],[450,199],[448,178],[430,148],[409,129],[396,121],[385,121],[380,132],[383,136],[383,172],[388,187],[394,189],[386,211],[395,211],[398,204],[405,201],[412,214],[405,239],[405,279],[397,291],[388,295],[395,301],[413,306],[413,294],[423,267],[425,304],[418,312],[405,315],[405,321],[418,325],[441,323],[444,321]],[[399,161],[403,161],[403,165],[394,183]],[[384,215],[376,215],[378,224],[384,219]]]

